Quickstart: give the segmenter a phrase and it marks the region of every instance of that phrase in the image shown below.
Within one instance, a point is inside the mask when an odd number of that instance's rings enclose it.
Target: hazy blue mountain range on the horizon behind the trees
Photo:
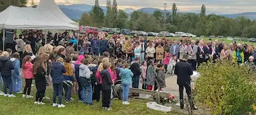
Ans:
[[[58,5],[59,8],[65,13],[69,18],[71,19],[80,19],[82,16],[82,13],[84,12],[89,12],[93,5],[87,5],[87,4],[72,4],[72,5]],[[103,9],[103,12],[106,14],[107,13],[107,8],[106,6],[100,6],[100,8]],[[124,11],[128,14],[131,14],[134,11],[143,11],[145,13],[150,13],[153,14],[154,11],[162,11],[162,12],[172,12],[171,9],[167,10],[161,10],[161,9],[156,9],[156,8],[142,8],[142,9],[132,9],[132,8],[127,8],[124,9]],[[179,11],[177,10],[178,13],[200,13],[201,11]],[[223,14],[218,11],[206,11],[206,15],[215,13],[216,15],[228,17],[228,18],[237,18],[239,16],[245,16],[245,18],[249,18],[251,20],[256,20],[256,12],[245,12],[245,13],[233,13],[233,14]]]

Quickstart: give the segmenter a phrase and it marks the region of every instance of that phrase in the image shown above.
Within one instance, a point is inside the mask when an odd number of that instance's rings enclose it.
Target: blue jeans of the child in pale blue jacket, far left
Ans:
[[[13,83],[13,91],[14,92],[21,92],[21,88],[22,88],[21,75],[11,75],[11,80],[12,80],[12,83]]]

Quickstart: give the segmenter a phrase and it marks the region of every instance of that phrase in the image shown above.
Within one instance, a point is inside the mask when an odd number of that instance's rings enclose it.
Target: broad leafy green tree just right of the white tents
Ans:
[[[92,11],[90,11],[90,16],[93,18],[92,26],[102,27],[102,23],[104,22],[104,12],[100,8],[99,0],[95,0],[95,6],[92,7]]]

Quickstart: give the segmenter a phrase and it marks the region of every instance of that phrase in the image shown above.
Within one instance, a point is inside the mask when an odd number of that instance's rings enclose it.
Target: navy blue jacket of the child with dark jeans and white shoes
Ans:
[[[65,67],[60,62],[54,62],[50,71],[50,76],[53,78],[53,84],[60,84],[64,81],[63,73],[65,73]]]

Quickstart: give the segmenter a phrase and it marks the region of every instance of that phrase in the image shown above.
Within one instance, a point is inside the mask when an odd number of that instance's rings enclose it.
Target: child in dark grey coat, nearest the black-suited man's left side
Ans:
[[[159,88],[159,91],[161,91],[162,88],[166,87],[165,74],[164,74],[164,64],[157,65],[156,66],[156,72],[157,72],[156,87]]]

